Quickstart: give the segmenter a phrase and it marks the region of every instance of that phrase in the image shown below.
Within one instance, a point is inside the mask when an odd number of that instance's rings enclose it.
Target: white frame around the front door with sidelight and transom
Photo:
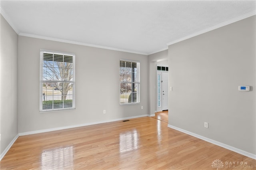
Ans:
[[[157,68],[159,67],[168,67],[168,65],[162,65],[162,64],[156,64],[156,112],[161,112],[162,111],[162,72],[167,72],[168,71],[162,71],[162,70],[157,70]],[[159,91],[158,91],[158,72],[161,72],[161,76],[160,76],[160,106],[158,105],[158,94],[159,94]],[[168,86],[168,85],[167,85]]]

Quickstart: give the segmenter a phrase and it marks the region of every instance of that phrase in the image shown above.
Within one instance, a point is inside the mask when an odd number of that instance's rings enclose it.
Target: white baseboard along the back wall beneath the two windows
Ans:
[[[134,119],[134,118],[139,118],[139,117],[148,117],[148,115],[124,117],[124,118],[112,119],[112,120],[107,120],[107,121],[98,121],[98,122],[92,122],[92,123],[83,123],[83,124],[80,124],[80,125],[71,125],[71,126],[65,126],[65,127],[48,128],[48,129],[34,130],[34,131],[29,131],[29,132],[20,132],[20,133],[19,133],[19,136],[24,136],[24,135],[28,135],[28,134],[44,133],[44,132],[52,132],[52,131],[55,131],[55,130],[63,130],[63,129],[68,129],[68,128],[84,127],[84,126],[96,125],[96,124],[100,124],[100,123],[108,123],[108,122],[114,122],[114,121],[122,121],[122,120],[126,120],[126,119]]]

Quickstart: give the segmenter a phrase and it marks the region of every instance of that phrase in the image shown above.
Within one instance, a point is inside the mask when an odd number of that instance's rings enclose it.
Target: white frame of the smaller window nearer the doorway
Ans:
[[[121,77],[120,77],[120,68],[121,68],[120,67],[120,62],[121,61],[136,63],[136,67],[138,69],[136,71],[137,75],[134,75],[134,81],[121,81]],[[137,81],[135,81],[135,77],[137,77]],[[131,84],[136,84],[137,85],[136,102],[121,103],[121,84],[122,83],[131,83]],[[128,60],[128,59],[120,59],[120,61],[119,61],[119,104],[120,105],[136,105],[136,104],[140,104],[140,61]]]

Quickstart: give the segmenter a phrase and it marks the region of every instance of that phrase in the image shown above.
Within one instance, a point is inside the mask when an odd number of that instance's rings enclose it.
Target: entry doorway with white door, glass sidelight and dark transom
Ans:
[[[168,66],[156,65],[156,111],[168,110]]]

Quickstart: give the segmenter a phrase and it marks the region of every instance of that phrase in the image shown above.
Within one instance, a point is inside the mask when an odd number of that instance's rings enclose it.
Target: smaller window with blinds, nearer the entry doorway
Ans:
[[[120,104],[140,103],[140,62],[120,60]]]

